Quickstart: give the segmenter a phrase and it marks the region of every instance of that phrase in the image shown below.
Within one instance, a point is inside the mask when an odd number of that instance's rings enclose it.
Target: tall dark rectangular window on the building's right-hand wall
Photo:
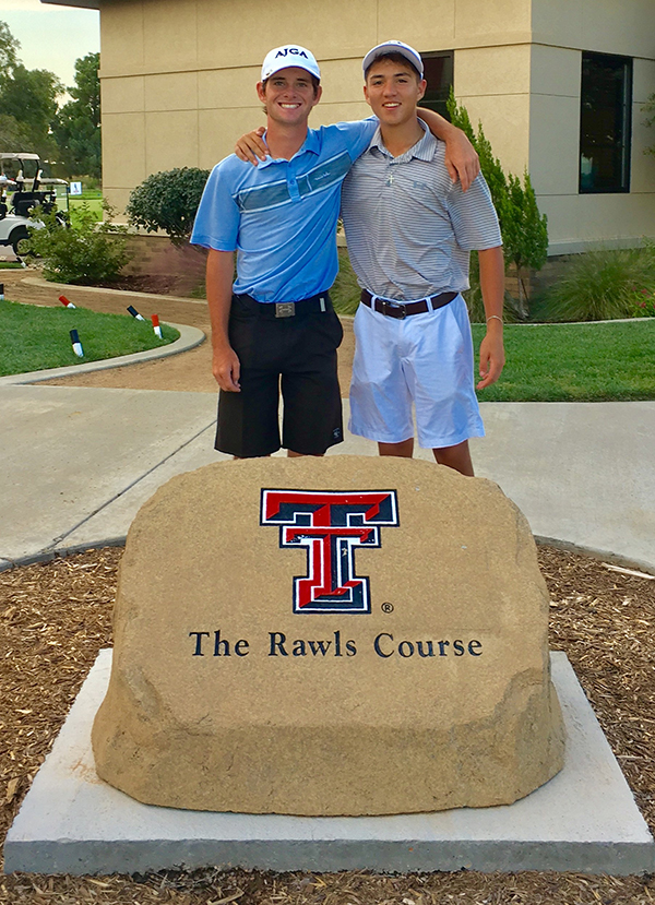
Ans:
[[[632,60],[582,55],[580,191],[630,191]]]

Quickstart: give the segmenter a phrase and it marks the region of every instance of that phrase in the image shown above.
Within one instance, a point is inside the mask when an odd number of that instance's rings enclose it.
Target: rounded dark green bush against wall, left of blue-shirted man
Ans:
[[[209,169],[196,167],[153,172],[130,194],[130,223],[146,233],[163,230],[171,242],[182,245],[191,235],[209,176]]]

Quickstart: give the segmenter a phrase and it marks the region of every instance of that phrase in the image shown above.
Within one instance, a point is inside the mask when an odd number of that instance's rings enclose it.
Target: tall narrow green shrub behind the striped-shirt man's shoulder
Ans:
[[[452,88],[448,110],[452,122],[467,134],[479,155],[480,169],[489,186],[491,200],[500,222],[505,264],[511,262],[516,267],[519,314],[525,318],[528,314],[528,306],[523,273],[527,269],[538,271],[546,263],[548,252],[546,214],[539,213],[527,170],[523,174],[523,182],[513,174],[505,176],[500,160],[493,156],[481,122],[478,122],[477,133],[474,132],[468,112],[464,106],[457,104]],[[481,302],[478,302],[479,306]]]

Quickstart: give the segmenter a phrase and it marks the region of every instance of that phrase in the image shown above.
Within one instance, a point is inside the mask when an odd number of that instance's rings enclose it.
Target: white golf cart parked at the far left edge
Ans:
[[[25,253],[27,227],[43,227],[31,213],[40,205],[66,226],[61,207],[68,211],[69,186],[64,179],[44,177],[38,154],[0,154],[0,246],[11,246],[16,258]],[[11,195],[11,200],[10,200]]]

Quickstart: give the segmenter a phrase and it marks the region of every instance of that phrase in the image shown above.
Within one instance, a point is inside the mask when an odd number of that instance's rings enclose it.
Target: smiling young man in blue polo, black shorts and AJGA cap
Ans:
[[[310,130],[319,82],[306,48],[287,45],[266,56],[257,91],[270,156],[253,167],[231,155],[213,169],[191,237],[210,250],[213,371],[221,386],[216,449],[237,457],[279,449],[279,388],[289,455],[322,455],[343,440],[336,373],[343,333],[327,290],[338,267],[341,186],[377,121]],[[432,117],[431,128],[461,143],[458,130]],[[471,162],[464,156],[463,167]]]

